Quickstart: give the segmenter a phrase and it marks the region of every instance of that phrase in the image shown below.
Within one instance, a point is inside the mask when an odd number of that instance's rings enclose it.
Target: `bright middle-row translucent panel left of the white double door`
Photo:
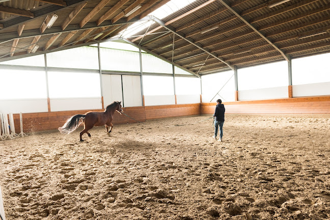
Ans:
[[[100,97],[98,73],[48,71],[49,98]]]

